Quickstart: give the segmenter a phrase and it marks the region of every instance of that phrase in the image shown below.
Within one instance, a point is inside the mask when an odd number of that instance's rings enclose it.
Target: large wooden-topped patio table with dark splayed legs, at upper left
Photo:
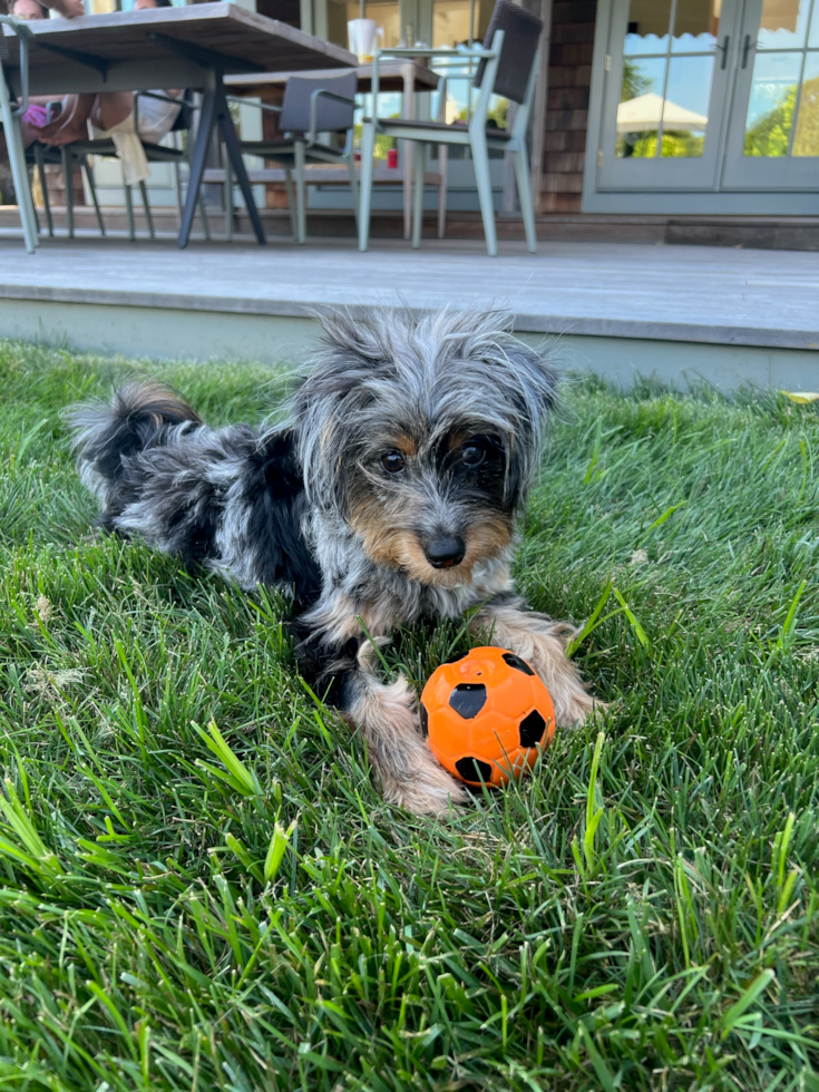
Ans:
[[[28,23],[29,94],[142,91],[194,87],[204,91],[191,179],[178,244],[186,246],[211,137],[218,127],[260,243],[259,217],[238,137],[225,98],[231,74],[275,69],[305,71],[351,68],[357,61],[333,46],[276,19],[232,3],[50,19]],[[3,67],[19,92],[19,42],[3,28],[9,58]]]

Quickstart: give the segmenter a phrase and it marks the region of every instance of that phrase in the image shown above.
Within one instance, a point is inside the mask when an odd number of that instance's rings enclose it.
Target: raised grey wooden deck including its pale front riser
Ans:
[[[56,238],[27,257],[17,240],[0,238],[7,337],[281,359],[310,340],[312,310],[402,301],[509,308],[521,334],[559,335],[569,365],[614,379],[623,369],[664,378],[688,369],[720,386],[768,386],[791,381],[792,367],[803,389],[811,374],[811,389],[819,384],[819,254],[810,252],[547,242],[529,255],[506,242],[493,260],[470,241],[430,240],[419,251],[376,242],[359,254],[348,240],[181,252],[170,241]],[[730,376],[711,370],[718,350],[729,353],[719,359]]]

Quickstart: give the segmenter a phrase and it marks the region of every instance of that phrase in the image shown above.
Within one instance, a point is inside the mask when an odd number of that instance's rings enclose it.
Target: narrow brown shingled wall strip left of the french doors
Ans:
[[[552,6],[542,213],[581,211],[596,8],[596,0]]]

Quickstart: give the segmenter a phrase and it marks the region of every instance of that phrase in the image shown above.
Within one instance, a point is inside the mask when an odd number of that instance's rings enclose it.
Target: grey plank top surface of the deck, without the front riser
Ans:
[[[381,304],[509,308],[529,332],[819,349],[819,253],[546,242],[0,238],[0,298],[257,315]],[[1,331],[0,331],[1,332]]]

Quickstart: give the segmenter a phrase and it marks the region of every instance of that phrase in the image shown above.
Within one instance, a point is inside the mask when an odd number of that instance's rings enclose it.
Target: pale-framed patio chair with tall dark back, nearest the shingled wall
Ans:
[[[415,142],[415,191],[412,207],[412,245],[420,246],[423,215],[423,165],[428,144],[454,144],[471,149],[475,179],[478,187],[480,213],[484,221],[486,248],[491,257],[498,252],[495,231],[495,208],[489,176],[489,150],[509,152],[515,164],[520,211],[526,232],[526,245],[530,253],[537,248],[535,212],[529,186],[529,157],[526,148],[526,129],[529,124],[535,97],[538,70],[538,39],[543,23],[524,8],[510,0],[497,0],[487,28],[484,47],[451,49],[386,49],[373,59],[372,96],[378,103],[378,65],[384,58],[441,57],[449,60],[477,62],[472,86],[479,89],[475,109],[467,125],[447,125],[445,121],[416,121],[407,118],[380,118],[376,109],[371,118],[364,118],[363,148],[361,152],[361,211],[359,213],[359,250],[365,251],[370,234],[370,204],[372,198],[372,163],[376,136],[384,135]],[[471,67],[471,66],[470,66]],[[471,78],[448,76],[446,79]],[[442,81],[443,82],[443,81]],[[446,96],[446,85],[440,89]],[[510,129],[489,126],[489,101],[500,95],[518,104]]]

